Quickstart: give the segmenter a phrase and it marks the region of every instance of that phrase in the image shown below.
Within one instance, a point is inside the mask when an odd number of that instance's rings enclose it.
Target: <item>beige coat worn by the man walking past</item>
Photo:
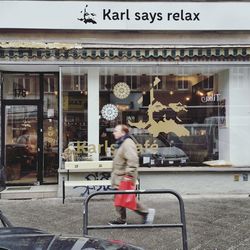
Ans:
[[[135,182],[138,176],[138,167],[139,158],[136,145],[131,138],[127,138],[115,151],[111,173],[112,187],[118,188],[124,176],[131,176]]]

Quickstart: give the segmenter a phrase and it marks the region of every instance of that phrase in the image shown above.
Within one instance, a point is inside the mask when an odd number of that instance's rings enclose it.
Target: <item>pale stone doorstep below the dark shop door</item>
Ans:
[[[42,199],[56,198],[58,185],[8,186],[0,192],[0,199]]]

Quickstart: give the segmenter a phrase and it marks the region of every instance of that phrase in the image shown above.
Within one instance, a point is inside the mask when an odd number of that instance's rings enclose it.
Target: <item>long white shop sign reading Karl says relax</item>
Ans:
[[[0,29],[250,30],[250,2],[0,1]]]

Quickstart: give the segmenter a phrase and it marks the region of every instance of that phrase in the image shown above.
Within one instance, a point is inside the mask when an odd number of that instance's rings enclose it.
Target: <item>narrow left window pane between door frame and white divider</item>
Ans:
[[[63,151],[69,143],[76,146],[77,141],[87,141],[88,128],[88,89],[87,74],[84,69],[64,68],[62,74],[63,98]],[[65,151],[65,152],[66,152]],[[75,160],[86,157],[82,151],[77,152]],[[64,160],[72,160],[64,154]]]

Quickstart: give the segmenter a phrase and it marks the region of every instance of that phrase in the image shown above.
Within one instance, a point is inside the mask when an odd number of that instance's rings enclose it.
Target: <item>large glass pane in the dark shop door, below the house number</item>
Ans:
[[[8,184],[39,181],[38,105],[5,105],[5,166]]]

